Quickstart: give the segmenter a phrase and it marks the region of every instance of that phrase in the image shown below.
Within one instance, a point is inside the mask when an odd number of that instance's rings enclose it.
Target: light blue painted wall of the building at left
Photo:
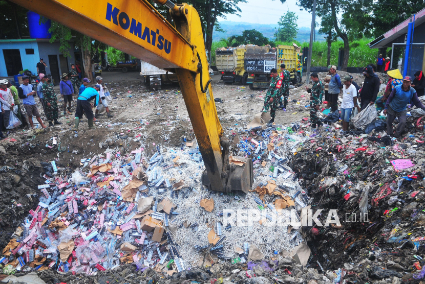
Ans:
[[[40,61],[38,54],[38,44],[35,40],[0,40],[0,76],[7,77],[7,70],[3,50],[18,49],[22,60],[23,69],[30,70],[33,74],[37,73],[37,63]],[[33,49],[34,54],[26,54],[25,49]]]

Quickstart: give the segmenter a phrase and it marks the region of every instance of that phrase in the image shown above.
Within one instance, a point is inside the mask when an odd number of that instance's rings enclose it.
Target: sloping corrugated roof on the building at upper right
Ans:
[[[417,12],[415,15],[415,27],[417,27],[425,21],[425,8]],[[398,37],[407,34],[408,25],[411,20],[413,21],[413,17],[409,17],[407,20],[400,23],[400,25],[392,28],[385,34],[375,38],[374,40],[368,43],[369,48],[379,49],[388,47],[388,45],[391,45],[391,43]]]

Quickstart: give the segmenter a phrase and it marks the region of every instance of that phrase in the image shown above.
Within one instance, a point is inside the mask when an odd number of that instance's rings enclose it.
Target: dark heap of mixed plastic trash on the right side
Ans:
[[[424,277],[423,146],[423,133],[402,139],[375,131],[342,135],[325,125],[306,135],[291,166],[311,204],[338,210],[342,224],[307,228],[309,247],[320,252],[309,264],[339,267],[354,282]]]

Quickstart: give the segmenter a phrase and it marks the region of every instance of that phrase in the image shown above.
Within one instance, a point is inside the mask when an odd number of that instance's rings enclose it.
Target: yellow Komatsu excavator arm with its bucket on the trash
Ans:
[[[158,68],[177,74],[194,128],[210,190],[245,193],[253,182],[252,161],[229,163],[230,143],[224,138],[214,102],[201,20],[188,4],[154,0],[169,8],[175,27],[146,0],[11,0],[73,30],[113,46]]]

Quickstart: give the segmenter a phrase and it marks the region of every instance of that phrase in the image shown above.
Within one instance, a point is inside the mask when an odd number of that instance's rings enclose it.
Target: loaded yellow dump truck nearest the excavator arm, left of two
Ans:
[[[247,85],[248,73],[244,68],[245,46],[216,51],[216,65],[224,83]]]

